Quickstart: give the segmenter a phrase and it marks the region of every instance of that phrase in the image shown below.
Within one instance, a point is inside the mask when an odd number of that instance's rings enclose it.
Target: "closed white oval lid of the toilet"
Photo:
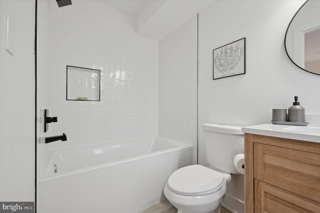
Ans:
[[[219,190],[223,175],[203,165],[188,165],[174,171],[167,181],[168,188],[181,195],[204,195]]]

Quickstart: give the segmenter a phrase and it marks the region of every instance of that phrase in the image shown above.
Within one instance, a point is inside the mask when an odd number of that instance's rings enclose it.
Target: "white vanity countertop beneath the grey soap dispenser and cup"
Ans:
[[[301,129],[294,131],[286,130],[285,128],[287,127],[294,128],[294,126],[291,127],[291,125],[265,123],[242,127],[242,132],[320,143],[320,133],[308,132],[309,128],[320,129],[320,126],[307,126],[305,131],[302,130],[303,128],[305,128],[304,126],[300,126],[302,127]]]

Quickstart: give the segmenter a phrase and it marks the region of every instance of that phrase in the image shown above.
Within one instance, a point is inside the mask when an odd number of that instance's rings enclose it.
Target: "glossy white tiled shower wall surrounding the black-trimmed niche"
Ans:
[[[157,135],[158,41],[137,35],[133,16],[99,1],[58,8],[41,0],[38,10],[49,16],[38,28],[39,92],[47,91],[39,102],[58,116],[43,135],[67,135],[41,150]],[[101,70],[100,101],[66,100],[66,65]]]

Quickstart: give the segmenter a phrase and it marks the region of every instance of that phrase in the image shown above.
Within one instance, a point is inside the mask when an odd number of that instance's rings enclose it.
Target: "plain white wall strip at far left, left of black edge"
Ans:
[[[0,200],[34,201],[34,0],[0,0],[0,38]]]

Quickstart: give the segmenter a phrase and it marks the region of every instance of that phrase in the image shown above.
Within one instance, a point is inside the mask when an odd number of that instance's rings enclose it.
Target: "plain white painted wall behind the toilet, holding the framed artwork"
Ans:
[[[320,113],[320,76],[296,67],[287,58],[283,44],[286,27],[303,2],[220,0],[199,13],[200,164],[206,165],[204,122],[244,126],[267,123],[271,109],[292,105],[294,95],[299,96],[307,113]],[[246,37],[246,74],[212,80],[212,49],[242,37]],[[243,200],[241,179],[243,176],[232,175],[232,187],[227,190],[239,200]]]

